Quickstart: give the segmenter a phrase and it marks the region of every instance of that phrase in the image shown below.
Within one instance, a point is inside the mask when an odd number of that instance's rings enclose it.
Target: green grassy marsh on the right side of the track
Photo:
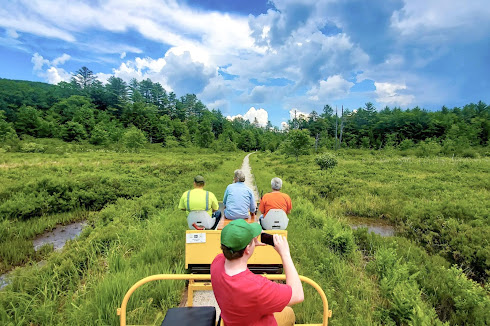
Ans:
[[[323,172],[312,156],[299,162],[275,154],[251,157],[260,190],[269,191],[274,176],[284,180],[294,207],[288,227],[293,259],[301,274],[325,289],[332,325],[489,324],[488,287],[469,280],[441,256],[429,255],[423,228],[439,224],[437,236],[446,241],[448,252],[459,248],[453,244],[464,244],[488,263],[488,158],[349,151],[340,152],[338,160],[332,172]],[[413,240],[353,232],[345,223],[349,215],[388,218]],[[445,228],[455,220],[475,237],[467,238],[458,229],[449,236]],[[462,258],[468,264],[473,257]],[[307,297],[295,308],[297,317],[318,321],[320,302],[310,299],[316,299],[313,292]]]

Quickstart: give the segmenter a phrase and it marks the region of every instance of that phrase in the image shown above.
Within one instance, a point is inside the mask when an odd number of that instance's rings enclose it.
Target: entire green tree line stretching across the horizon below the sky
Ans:
[[[341,112],[325,105],[321,113],[295,116],[289,130],[269,122],[261,127],[241,118],[227,120],[208,110],[195,94],[177,97],[150,79],[126,83],[111,76],[106,84],[82,67],[71,82],[49,85],[0,79],[0,141],[23,135],[108,145],[126,141],[166,147],[218,150],[283,150],[301,155],[312,148],[399,148],[440,146],[448,151],[488,146],[490,106],[480,101],[462,108],[402,110],[372,103]]]

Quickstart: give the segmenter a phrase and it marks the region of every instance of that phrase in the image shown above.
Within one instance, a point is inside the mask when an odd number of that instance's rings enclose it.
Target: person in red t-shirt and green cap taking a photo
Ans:
[[[288,306],[304,299],[285,237],[273,236],[286,284],[269,281],[248,269],[247,262],[255,247],[265,246],[257,238],[261,233],[258,223],[249,224],[243,219],[231,221],[221,232],[223,253],[211,264],[211,284],[226,326],[294,325],[294,312]]]

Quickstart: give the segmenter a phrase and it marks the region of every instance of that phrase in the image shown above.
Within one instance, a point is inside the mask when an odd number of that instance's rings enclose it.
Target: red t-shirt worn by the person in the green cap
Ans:
[[[277,326],[273,313],[291,300],[287,284],[269,281],[247,270],[233,276],[225,272],[225,256],[211,264],[211,284],[226,326]]]

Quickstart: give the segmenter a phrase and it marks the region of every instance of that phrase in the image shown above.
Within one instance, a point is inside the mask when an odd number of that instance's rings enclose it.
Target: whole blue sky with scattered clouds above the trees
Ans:
[[[296,110],[490,102],[483,0],[3,1],[0,77],[150,78],[280,126]]]

